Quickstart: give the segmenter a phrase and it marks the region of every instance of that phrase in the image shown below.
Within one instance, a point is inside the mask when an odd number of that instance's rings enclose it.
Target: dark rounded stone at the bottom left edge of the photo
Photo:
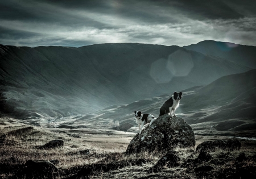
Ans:
[[[28,160],[15,178],[59,178],[58,168],[46,160]]]

